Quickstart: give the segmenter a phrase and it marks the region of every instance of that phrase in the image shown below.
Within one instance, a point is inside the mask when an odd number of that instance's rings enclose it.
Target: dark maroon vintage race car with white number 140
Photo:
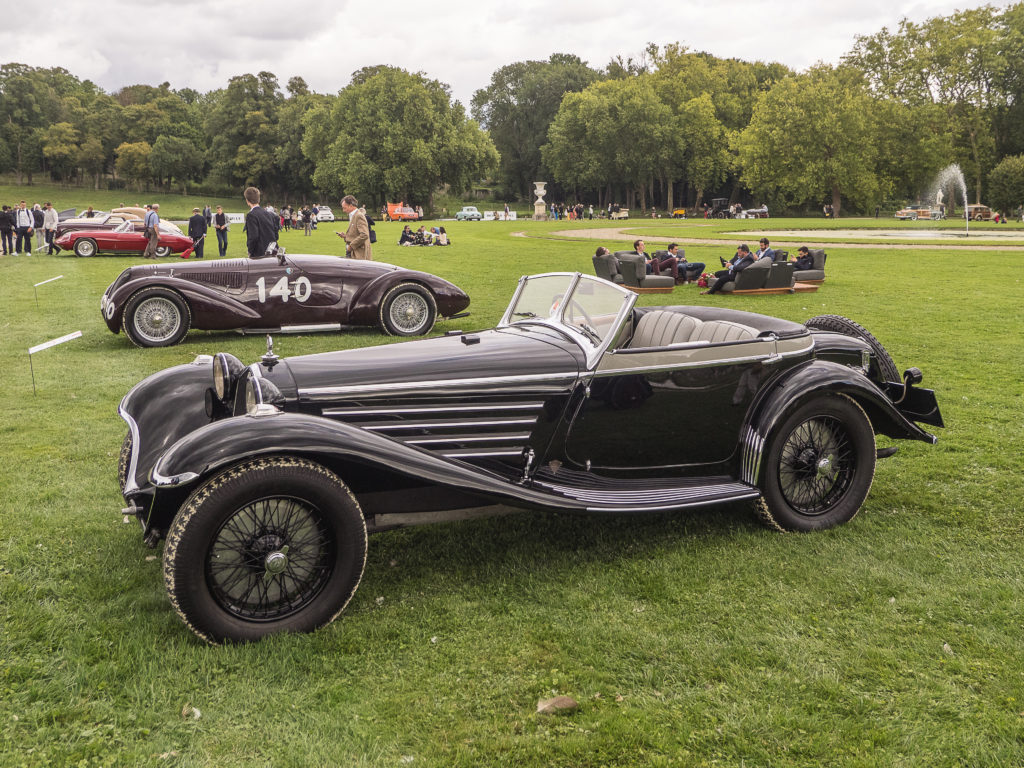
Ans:
[[[141,347],[171,346],[189,328],[246,333],[339,331],[380,326],[395,336],[430,331],[469,297],[427,272],[336,256],[143,264],[106,289],[106,327]]]

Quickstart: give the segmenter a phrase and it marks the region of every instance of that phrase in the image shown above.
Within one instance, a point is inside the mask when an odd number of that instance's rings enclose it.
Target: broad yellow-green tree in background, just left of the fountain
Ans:
[[[773,203],[830,202],[866,208],[877,200],[873,102],[852,68],[812,68],[757,100],[755,120],[734,139],[743,183]]]

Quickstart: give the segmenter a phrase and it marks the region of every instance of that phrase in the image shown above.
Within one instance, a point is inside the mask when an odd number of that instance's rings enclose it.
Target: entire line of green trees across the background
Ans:
[[[17,182],[260,186],[429,206],[488,180],[496,197],[604,206],[869,211],[914,200],[958,163],[975,202],[1016,206],[1024,181],[1024,3],[857,37],[838,66],[794,72],[648,45],[603,69],[516,61],[467,115],[424,73],[368,67],[334,95],[268,72],[209,93],[169,83],[105,93],[62,69],[0,67],[0,171]],[[947,197],[947,201],[950,200]]]

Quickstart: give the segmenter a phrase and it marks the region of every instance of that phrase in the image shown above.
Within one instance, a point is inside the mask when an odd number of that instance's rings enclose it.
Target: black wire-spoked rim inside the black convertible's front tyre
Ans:
[[[214,536],[206,580],[217,604],[239,618],[268,622],[306,607],[337,557],[323,513],[293,497],[259,499],[236,510]]]

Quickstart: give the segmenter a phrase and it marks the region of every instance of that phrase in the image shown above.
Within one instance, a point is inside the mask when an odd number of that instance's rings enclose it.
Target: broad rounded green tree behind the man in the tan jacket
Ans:
[[[314,121],[326,124],[306,132],[302,150],[315,164],[315,186],[368,205],[429,206],[441,184],[463,191],[498,163],[490,139],[452,101],[447,86],[397,68],[353,78],[330,106],[310,110],[303,125],[311,129]]]

